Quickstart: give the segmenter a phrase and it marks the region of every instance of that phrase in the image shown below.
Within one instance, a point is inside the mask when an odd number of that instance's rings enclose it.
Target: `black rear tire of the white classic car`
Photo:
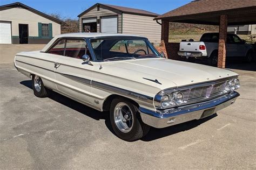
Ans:
[[[40,82],[39,84],[40,89],[38,89],[36,86],[38,85],[38,83],[35,84],[35,79],[38,80],[38,82]],[[35,86],[36,85],[36,86]],[[44,83],[42,81],[42,79],[40,77],[38,77],[37,75],[32,75],[32,89],[34,91],[35,96],[37,97],[48,97],[49,92],[48,90],[46,90],[46,88],[44,87]]]

